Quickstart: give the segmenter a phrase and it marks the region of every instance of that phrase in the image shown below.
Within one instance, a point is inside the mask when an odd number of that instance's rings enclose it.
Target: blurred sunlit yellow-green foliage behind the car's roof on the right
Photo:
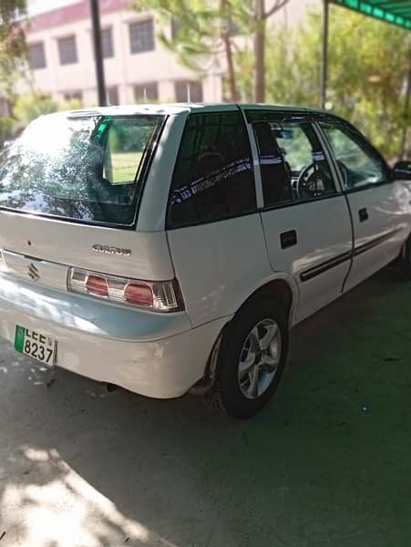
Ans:
[[[328,101],[389,159],[401,150],[406,77],[411,51],[406,30],[334,7],[330,19]],[[267,101],[318,107],[322,14],[297,28],[276,26],[267,36]],[[252,98],[252,51],[235,57],[244,98]],[[395,59],[395,62],[393,62]]]

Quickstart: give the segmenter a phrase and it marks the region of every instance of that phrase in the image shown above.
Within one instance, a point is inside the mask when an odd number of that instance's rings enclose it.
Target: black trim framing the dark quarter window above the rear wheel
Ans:
[[[252,163],[251,174],[252,174],[252,181],[253,181],[253,185],[254,185],[255,209],[253,211],[241,212],[241,213],[238,213],[238,214],[231,214],[231,215],[228,215],[228,216],[225,216],[225,217],[222,217],[222,218],[218,218],[218,219],[211,219],[211,220],[206,220],[206,221],[202,220],[202,221],[197,221],[197,222],[187,222],[187,224],[180,224],[180,225],[177,225],[177,226],[172,226],[171,223],[170,223],[170,207],[171,207],[170,198],[171,198],[171,191],[172,191],[172,181],[174,179],[174,173],[175,173],[175,170],[177,168],[177,160],[179,159],[179,155],[180,155],[180,150],[181,150],[181,146],[182,146],[182,138],[183,138],[185,130],[187,129],[187,126],[189,124],[190,117],[191,116],[204,116],[205,114],[221,114],[221,113],[223,114],[223,113],[228,113],[228,112],[239,112],[240,113],[241,124],[244,128],[244,133],[245,133],[245,136],[246,136],[246,139],[247,139],[248,149],[249,149],[249,152],[250,152],[250,160],[251,160],[251,163]],[[251,145],[251,142],[250,142],[249,132],[247,130],[246,122],[245,122],[241,107],[236,105],[236,106],[234,106],[234,108],[227,108],[227,109],[223,109],[223,110],[208,110],[206,112],[201,112],[201,111],[200,112],[192,112],[191,111],[189,113],[189,115],[187,116],[187,119],[184,122],[184,128],[183,128],[182,133],[181,133],[180,146],[179,146],[179,150],[177,151],[176,160],[174,162],[174,168],[172,170],[172,175],[171,175],[171,178],[170,178],[170,190],[169,190],[169,197],[167,199],[164,230],[167,231],[167,232],[170,232],[171,230],[182,230],[184,228],[190,228],[190,227],[194,227],[194,226],[202,226],[202,225],[211,224],[211,223],[214,223],[214,222],[226,222],[226,221],[230,221],[232,219],[237,219],[237,218],[249,216],[249,215],[252,215],[252,214],[257,214],[259,212],[260,212],[260,209],[259,209],[258,203],[257,203],[257,188],[256,188],[256,178],[255,178],[254,157],[252,155],[252,145]]]

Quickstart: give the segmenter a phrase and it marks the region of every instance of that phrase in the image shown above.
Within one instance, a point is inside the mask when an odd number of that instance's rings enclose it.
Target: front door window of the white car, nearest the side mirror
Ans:
[[[342,172],[346,190],[387,181],[383,160],[359,134],[343,125],[321,123],[321,127]]]

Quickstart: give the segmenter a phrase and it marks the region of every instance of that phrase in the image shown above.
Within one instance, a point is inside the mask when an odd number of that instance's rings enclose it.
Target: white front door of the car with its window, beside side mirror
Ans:
[[[347,196],[354,229],[354,260],[344,290],[374,274],[400,252],[409,232],[408,201],[380,154],[351,125],[320,120]]]

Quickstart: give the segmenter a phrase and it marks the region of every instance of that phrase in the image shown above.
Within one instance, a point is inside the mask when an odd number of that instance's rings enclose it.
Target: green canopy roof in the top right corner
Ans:
[[[385,23],[411,30],[411,0],[330,0]]]

